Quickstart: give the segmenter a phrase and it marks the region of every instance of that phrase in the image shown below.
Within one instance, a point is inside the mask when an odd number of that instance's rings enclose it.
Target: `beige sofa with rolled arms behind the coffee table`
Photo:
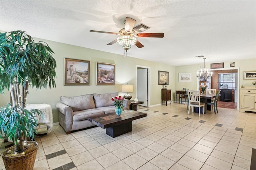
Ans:
[[[112,97],[116,93],[87,94],[76,97],[60,97],[60,102],[56,103],[59,112],[59,124],[64,128],[66,134],[72,130],[79,130],[92,127],[94,124],[88,121],[89,117],[115,113]],[[124,100],[124,110],[129,110],[131,101]]]

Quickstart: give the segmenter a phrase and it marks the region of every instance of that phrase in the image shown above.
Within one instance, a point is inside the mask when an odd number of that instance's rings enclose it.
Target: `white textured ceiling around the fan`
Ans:
[[[124,54],[118,32],[130,17],[146,32],[164,38],[138,38],[144,45],[130,57],[170,65],[218,63],[256,57],[256,1],[245,0],[0,0],[0,30],[23,30],[36,38]]]

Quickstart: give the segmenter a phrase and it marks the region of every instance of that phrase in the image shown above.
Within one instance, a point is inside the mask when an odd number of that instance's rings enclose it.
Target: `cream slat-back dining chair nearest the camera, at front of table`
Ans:
[[[204,114],[204,103],[200,102],[200,91],[196,90],[188,90],[188,114],[190,113],[190,109],[192,107],[192,112],[194,112],[194,107],[198,107],[198,113],[200,117],[200,107],[203,107]]]

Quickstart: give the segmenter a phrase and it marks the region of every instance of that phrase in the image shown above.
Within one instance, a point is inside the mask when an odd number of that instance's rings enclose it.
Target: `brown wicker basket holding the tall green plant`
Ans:
[[[6,170],[33,170],[34,163],[36,160],[36,153],[38,150],[38,143],[36,141],[28,141],[27,143],[30,142],[35,142],[37,148],[28,154],[22,156],[5,156],[5,154],[9,150],[13,150],[15,146],[11,146],[2,153],[2,158]]]

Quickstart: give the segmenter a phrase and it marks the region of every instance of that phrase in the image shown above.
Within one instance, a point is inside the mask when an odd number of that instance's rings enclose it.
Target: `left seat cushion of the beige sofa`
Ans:
[[[97,115],[103,115],[104,111],[99,110],[99,109],[86,109],[83,111],[76,111],[73,112],[73,120],[74,121],[82,121],[82,120],[86,120],[89,117],[93,117],[93,116],[97,116]]]

